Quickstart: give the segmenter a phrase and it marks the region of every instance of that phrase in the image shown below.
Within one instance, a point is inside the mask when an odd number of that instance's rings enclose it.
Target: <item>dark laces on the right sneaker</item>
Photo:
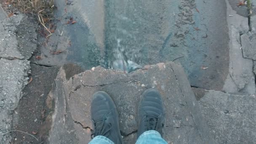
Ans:
[[[149,130],[156,130],[157,129],[157,122],[158,122],[158,117],[152,116],[152,115],[146,115],[144,117],[144,128],[146,131]]]

